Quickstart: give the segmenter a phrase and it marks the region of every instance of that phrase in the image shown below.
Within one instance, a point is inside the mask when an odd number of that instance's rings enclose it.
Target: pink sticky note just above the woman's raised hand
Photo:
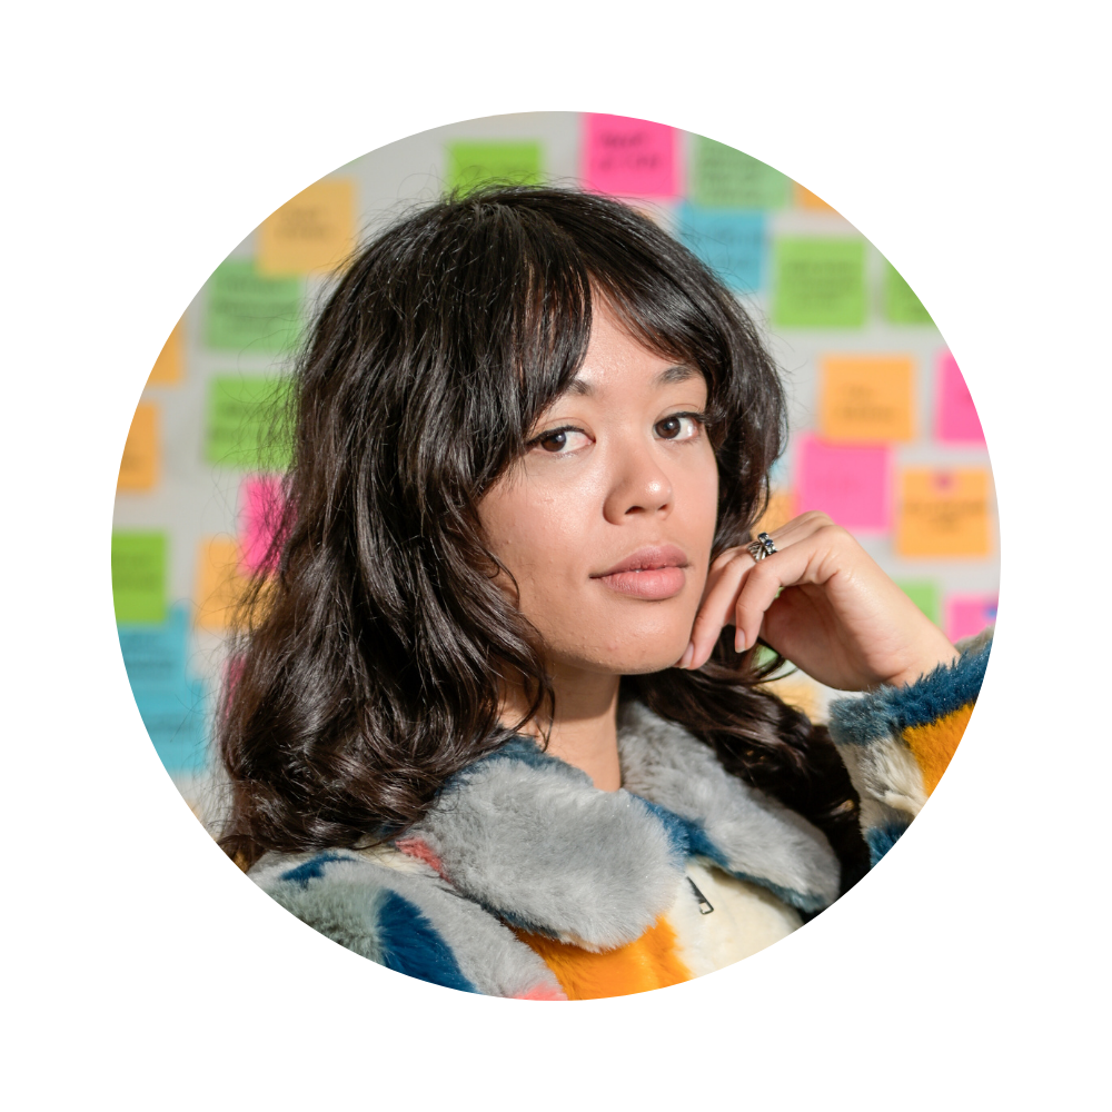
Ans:
[[[820,509],[847,529],[890,528],[892,453],[846,447],[807,435],[797,446],[796,513]]]

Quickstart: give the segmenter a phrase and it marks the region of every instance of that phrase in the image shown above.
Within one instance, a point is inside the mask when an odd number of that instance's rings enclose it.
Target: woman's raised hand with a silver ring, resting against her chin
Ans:
[[[706,664],[728,625],[738,652],[761,637],[840,691],[902,686],[957,659],[942,631],[825,514],[802,514],[770,536],[777,550],[759,563],[742,547],[711,565],[677,667]]]

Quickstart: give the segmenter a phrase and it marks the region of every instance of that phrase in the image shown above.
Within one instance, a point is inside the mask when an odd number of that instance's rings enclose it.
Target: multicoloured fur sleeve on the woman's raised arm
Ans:
[[[957,752],[989,665],[995,627],[959,642],[961,658],[906,687],[831,704],[831,737],[861,795],[873,865],[922,811]]]

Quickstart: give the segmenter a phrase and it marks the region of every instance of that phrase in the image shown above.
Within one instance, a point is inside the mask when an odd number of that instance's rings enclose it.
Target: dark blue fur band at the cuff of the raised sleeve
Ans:
[[[867,745],[924,726],[976,701],[989,667],[992,642],[955,664],[939,665],[906,687],[882,687],[861,698],[831,704],[831,736],[838,745]]]

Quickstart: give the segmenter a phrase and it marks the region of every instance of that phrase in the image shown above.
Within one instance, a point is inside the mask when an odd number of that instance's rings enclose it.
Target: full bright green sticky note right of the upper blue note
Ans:
[[[773,245],[772,319],[787,328],[863,327],[864,239],[777,239]]]

